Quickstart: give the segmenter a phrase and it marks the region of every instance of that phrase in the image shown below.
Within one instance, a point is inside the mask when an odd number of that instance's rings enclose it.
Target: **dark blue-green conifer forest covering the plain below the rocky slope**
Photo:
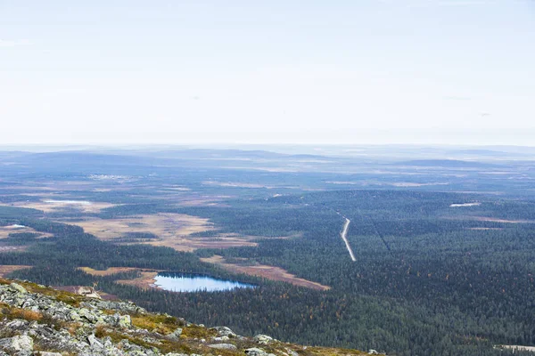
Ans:
[[[275,194],[273,188],[202,185],[200,179],[213,178],[210,169],[204,178],[200,172],[178,171],[106,182],[96,191],[83,185],[62,188],[62,198],[111,205],[89,212],[24,207],[42,201],[28,195],[39,190],[0,186],[5,203],[0,227],[20,225],[34,231],[15,230],[0,239],[0,247],[17,248],[0,252],[0,265],[31,266],[12,271],[12,278],[52,286],[97,283],[102,292],[152,311],[294,343],[389,355],[503,355],[508,352],[494,345],[535,344],[535,201],[518,198],[515,190],[500,195],[427,189],[314,191],[307,189],[310,182],[320,184],[324,175],[290,174],[288,179],[301,185],[284,185]],[[62,182],[54,174],[46,179]],[[82,179],[71,172],[65,182],[72,182],[72,174]],[[184,181],[185,174],[190,181]],[[233,171],[218,174],[218,180],[239,176]],[[276,179],[273,174],[243,174],[243,181]],[[31,180],[45,180],[37,175]],[[171,200],[166,187],[177,182],[188,190],[173,193],[177,198]],[[191,197],[217,199],[177,204]],[[20,201],[24,204],[17,205]],[[134,231],[107,240],[77,225],[88,218],[106,221],[142,214],[205,218],[213,229],[193,232],[189,239],[216,241],[234,234],[256,246],[178,251],[152,246],[160,240],[156,232]],[[355,262],[341,238],[344,218],[350,220],[347,239]],[[202,260],[215,255],[227,263],[277,266],[330,289],[235,274]],[[96,276],[79,267],[201,273],[258,287],[175,293],[118,282],[136,279],[140,271]]]

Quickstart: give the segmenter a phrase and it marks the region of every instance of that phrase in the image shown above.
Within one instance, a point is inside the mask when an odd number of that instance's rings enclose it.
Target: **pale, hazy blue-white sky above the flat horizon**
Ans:
[[[535,146],[533,0],[0,0],[0,145]]]

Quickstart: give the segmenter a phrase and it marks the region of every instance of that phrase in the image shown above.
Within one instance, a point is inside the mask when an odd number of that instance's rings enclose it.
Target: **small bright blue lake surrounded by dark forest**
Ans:
[[[158,273],[154,278],[154,283],[161,289],[171,292],[217,292],[222,290],[232,290],[235,288],[254,288],[256,286],[237,282],[235,280],[215,279],[209,276],[199,274],[185,273]]]

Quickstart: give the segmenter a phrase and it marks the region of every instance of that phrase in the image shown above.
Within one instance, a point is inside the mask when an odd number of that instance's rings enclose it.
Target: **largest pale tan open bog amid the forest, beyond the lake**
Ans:
[[[195,232],[214,231],[208,219],[186,214],[141,214],[118,219],[86,218],[75,224],[99,239],[113,242],[132,232],[150,232],[159,237],[143,244],[171,247],[177,251],[192,252],[197,248],[228,248],[257,246],[252,239],[258,237],[221,234],[217,237],[190,236]],[[136,243],[132,241],[131,243]]]

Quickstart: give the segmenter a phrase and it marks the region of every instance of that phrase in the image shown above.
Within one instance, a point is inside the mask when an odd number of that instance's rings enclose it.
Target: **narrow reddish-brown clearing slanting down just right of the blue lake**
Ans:
[[[213,255],[210,258],[202,258],[201,261],[217,264],[219,267],[224,268],[226,271],[249,274],[251,276],[262,277],[265,279],[278,280],[286,283],[291,283],[295,286],[307,287],[317,290],[331,289],[331,287],[324,286],[320,283],[296,277],[292,273],[289,273],[288,271],[285,271],[280,267],[268,266],[265,264],[245,266],[233,263],[226,263],[225,258],[220,255]]]

